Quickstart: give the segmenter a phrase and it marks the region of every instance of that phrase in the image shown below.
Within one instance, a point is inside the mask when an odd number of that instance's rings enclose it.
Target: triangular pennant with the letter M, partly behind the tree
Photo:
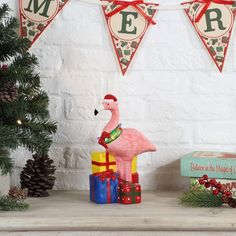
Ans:
[[[38,39],[68,0],[19,0],[21,36],[31,45]]]

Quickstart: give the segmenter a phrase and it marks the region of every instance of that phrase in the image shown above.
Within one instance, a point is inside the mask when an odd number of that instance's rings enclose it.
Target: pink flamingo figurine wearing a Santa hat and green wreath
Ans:
[[[101,110],[111,111],[111,119],[104,127],[98,143],[112,154],[117,163],[120,178],[131,181],[132,159],[144,152],[154,152],[156,147],[136,129],[122,129],[119,124],[117,98],[111,94],[104,97],[102,105],[94,110],[96,116]]]

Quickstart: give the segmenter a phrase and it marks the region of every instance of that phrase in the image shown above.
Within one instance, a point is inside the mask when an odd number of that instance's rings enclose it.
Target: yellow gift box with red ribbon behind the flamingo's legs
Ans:
[[[116,172],[116,160],[114,156],[106,157],[106,152],[92,152],[92,173],[100,173],[108,169]],[[137,157],[132,161],[132,174],[137,172]]]

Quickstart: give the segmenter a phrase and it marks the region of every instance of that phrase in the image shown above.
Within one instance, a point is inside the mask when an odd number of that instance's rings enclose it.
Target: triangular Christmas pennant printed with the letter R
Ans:
[[[185,12],[214,63],[222,72],[234,25],[235,4],[226,0],[185,2]]]

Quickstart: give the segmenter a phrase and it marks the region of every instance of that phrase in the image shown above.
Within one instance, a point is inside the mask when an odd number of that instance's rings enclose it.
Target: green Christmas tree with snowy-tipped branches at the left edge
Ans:
[[[49,98],[36,71],[38,60],[29,53],[30,41],[17,34],[19,22],[0,5],[0,152],[19,146],[47,153],[56,132],[49,120]],[[9,172],[9,155],[0,153],[0,169]]]

